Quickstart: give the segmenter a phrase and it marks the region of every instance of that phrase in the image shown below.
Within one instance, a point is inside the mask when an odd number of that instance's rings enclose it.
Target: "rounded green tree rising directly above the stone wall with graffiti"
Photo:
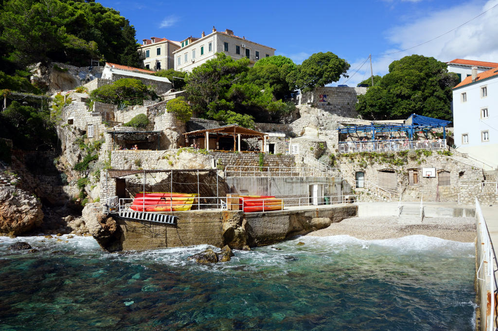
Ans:
[[[350,64],[332,52],[315,53],[298,66],[296,86],[302,92],[312,91],[315,87],[337,82],[346,73]]]

